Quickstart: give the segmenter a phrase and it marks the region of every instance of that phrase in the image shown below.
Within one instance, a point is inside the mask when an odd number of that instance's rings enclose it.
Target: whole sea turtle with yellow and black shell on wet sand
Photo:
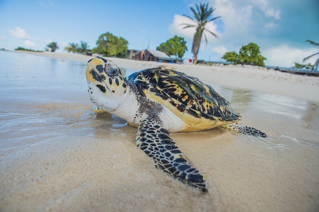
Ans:
[[[266,137],[255,128],[237,124],[241,116],[211,86],[194,76],[165,68],[148,68],[124,78],[110,60],[87,62],[88,93],[95,113],[109,112],[138,128],[136,145],[155,166],[192,186],[207,190],[201,172],[192,166],[170,137],[223,127]]]

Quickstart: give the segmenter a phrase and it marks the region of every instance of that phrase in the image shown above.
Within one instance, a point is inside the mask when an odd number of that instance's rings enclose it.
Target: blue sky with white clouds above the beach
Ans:
[[[69,42],[87,41],[95,46],[101,33],[112,32],[129,41],[129,48],[150,48],[175,34],[185,37],[191,58],[194,30],[183,30],[180,23],[191,23],[182,14],[192,15],[195,0],[176,1],[58,1],[0,0],[0,47],[17,46],[44,49],[56,41],[63,51]],[[202,40],[199,59],[221,60],[225,51],[239,51],[256,42],[267,65],[292,66],[316,49],[306,39],[319,42],[319,1],[317,0],[209,0],[222,16],[207,27],[220,39]],[[312,60],[313,61],[313,60]]]

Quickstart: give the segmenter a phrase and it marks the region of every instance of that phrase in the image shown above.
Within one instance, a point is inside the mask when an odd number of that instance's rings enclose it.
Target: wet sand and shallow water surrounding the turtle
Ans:
[[[19,68],[6,67],[8,60],[0,60],[5,73]],[[89,114],[85,65],[24,54],[19,61],[25,69],[2,78],[0,88],[0,211],[319,208],[317,102],[212,85],[241,114],[241,124],[270,138],[222,128],[172,134],[204,173],[209,192],[202,193],[155,169],[135,145],[136,128],[110,114]],[[40,65],[31,71],[34,61]],[[66,83],[70,70],[73,81]]]

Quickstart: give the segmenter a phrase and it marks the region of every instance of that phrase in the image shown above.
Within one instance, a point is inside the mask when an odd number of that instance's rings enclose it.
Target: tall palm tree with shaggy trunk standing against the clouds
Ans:
[[[215,36],[215,38],[218,38],[218,36],[215,33],[211,32],[210,30],[205,28],[205,25],[210,21],[213,21],[217,18],[220,18],[220,16],[215,17],[215,18],[211,18],[211,13],[215,9],[213,9],[211,7],[208,8],[208,3],[207,4],[200,3],[199,7],[196,4],[196,9],[197,9],[197,11],[195,11],[195,9],[193,7],[190,7],[190,10],[194,13],[195,18],[192,18],[188,15],[183,15],[183,16],[191,19],[192,21],[195,21],[196,24],[181,24],[181,25],[186,25],[186,26],[184,26],[183,29],[189,28],[189,27],[196,27],[196,32],[194,34],[194,40],[193,40],[193,46],[192,46],[192,53],[194,54],[194,57],[195,57],[194,63],[197,63],[197,54],[198,54],[198,50],[199,50],[199,46],[200,46],[200,42],[202,40],[203,34],[204,34],[204,37],[206,40],[206,45],[207,45],[207,38],[206,38],[205,32],[209,32],[213,36]]]

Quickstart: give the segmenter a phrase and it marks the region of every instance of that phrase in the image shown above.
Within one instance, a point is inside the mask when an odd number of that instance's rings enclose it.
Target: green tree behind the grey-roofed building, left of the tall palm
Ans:
[[[165,43],[159,44],[156,50],[165,52],[168,56],[175,55],[176,58],[177,56],[182,58],[187,51],[186,41],[184,38],[175,35],[174,38],[170,38]]]

